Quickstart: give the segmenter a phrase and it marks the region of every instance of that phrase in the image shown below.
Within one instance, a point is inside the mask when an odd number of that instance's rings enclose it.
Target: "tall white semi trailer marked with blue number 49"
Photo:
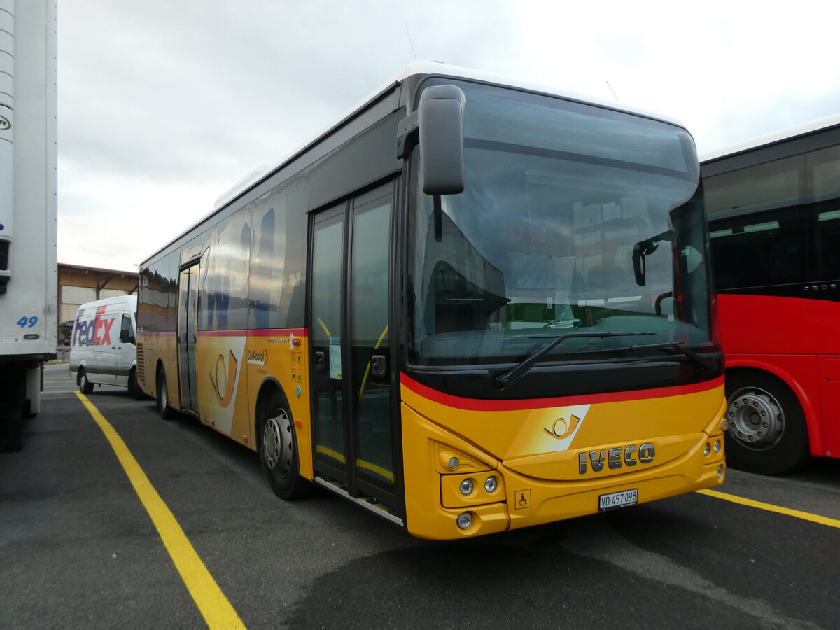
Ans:
[[[55,357],[55,0],[0,0],[0,449],[20,449]]]

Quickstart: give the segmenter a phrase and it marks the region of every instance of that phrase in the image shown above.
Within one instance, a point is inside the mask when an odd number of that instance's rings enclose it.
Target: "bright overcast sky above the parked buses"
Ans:
[[[58,260],[136,270],[415,58],[666,113],[701,154],[840,113],[832,2],[582,4],[58,0]]]

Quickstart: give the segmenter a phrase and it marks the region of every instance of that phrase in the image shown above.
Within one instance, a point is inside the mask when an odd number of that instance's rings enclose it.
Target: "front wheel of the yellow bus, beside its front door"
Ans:
[[[307,495],[310,484],[300,475],[297,438],[291,412],[280,391],[272,391],[257,420],[260,438],[260,468],[271,490],[284,501]]]

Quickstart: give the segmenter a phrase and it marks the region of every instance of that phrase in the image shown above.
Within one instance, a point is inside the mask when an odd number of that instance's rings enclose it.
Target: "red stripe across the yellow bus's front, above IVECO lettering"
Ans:
[[[611,391],[606,394],[588,394],[582,396],[563,396],[559,398],[525,398],[522,400],[493,401],[478,398],[462,398],[452,396],[443,391],[433,390],[414,381],[411,377],[401,373],[400,382],[418,396],[423,396],[432,402],[438,402],[446,407],[463,409],[471,412],[512,412],[524,409],[543,409],[548,407],[571,407],[574,405],[588,405],[599,402],[624,402],[664,398],[666,396],[683,396],[709,391],[723,385],[723,377],[713,381],[703,381],[691,385],[661,387],[653,390]]]

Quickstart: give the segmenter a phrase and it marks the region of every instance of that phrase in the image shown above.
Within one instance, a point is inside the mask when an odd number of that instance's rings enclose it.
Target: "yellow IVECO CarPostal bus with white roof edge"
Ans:
[[[144,261],[139,385],[422,538],[717,486],[699,174],[659,114],[414,63]]]

